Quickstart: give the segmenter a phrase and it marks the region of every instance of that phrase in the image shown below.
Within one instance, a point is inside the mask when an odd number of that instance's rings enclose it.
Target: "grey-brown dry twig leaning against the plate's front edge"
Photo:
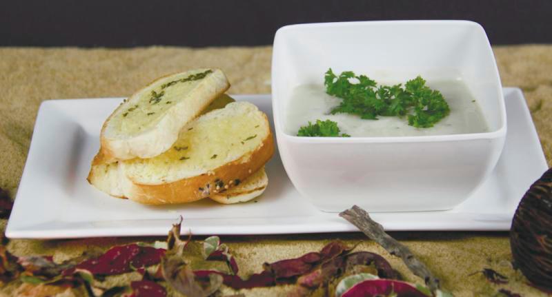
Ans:
[[[371,240],[380,244],[389,254],[402,258],[408,269],[413,274],[423,278],[431,291],[440,288],[439,278],[433,276],[426,265],[418,260],[408,247],[386,234],[382,225],[373,221],[364,209],[354,205],[351,209],[339,213],[339,216],[357,226],[360,231],[364,232]]]

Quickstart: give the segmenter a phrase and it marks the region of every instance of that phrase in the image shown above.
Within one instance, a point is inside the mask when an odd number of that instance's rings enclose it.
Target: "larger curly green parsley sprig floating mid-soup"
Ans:
[[[351,80],[357,83],[351,83]],[[352,71],[335,75],[331,68],[324,76],[326,93],[343,101],[331,110],[331,114],[356,114],[361,119],[377,119],[377,116],[407,116],[408,125],[426,128],[448,116],[449,104],[441,92],[426,86],[421,76],[404,85],[380,85],[367,76],[356,76]]]

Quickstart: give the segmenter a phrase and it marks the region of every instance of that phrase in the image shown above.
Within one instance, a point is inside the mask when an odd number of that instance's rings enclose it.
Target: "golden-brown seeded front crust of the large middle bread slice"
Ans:
[[[269,132],[262,145],[255,151],[236,161],[217,167],[209,174],[201,174],[160,185],[141,185],[129,179],[128,185],[125,186],[125,193],[128,194],[130,200],[149,205],[197,201],[208,197],[211,193],[216,194],[221,190],[224,192],[224,186],[233,187],[235,180],[246,180],[248,176],[261,169],[273,154],[273,134]],[[219,189],[217,189],[217,185],[219,185]]]

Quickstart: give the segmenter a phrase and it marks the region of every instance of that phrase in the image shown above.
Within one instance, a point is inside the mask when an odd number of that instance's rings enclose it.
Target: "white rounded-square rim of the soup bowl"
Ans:
[[[412,23],[418,24],[427,24],[427,25],[443,25],[443,24],[456,24],[456,25],[466,25],[466,26],[475,26],[482,30],[485,36],[485,47],[491,52],[491,59],[493,62],[493,71],[497,74],[495,84],[493,88],[499,96],[498,100],[498,114],[500,116],[500,127],[497,130],[490,132],[479,132],[479,133],[461,133],[461,134],[442,134],[442,135],[428,135],[428,136],[351,136],[351,137],[305,137],[305,136],[294,136],[290,135],[284,130],[282,130],[282,123],[280,122],[280,113],[277,105],[278,92],[274,88],[274,83],[272,83],[272,107],[273,107],[273,119],[274,119],[274,129],[278,139],[285,141],[290,141],[293,143],[425,143],[425,142],[441,142],[441,141],[471,141],[471,140],[480,140],[480,139],[501,139],[506,136],[506,104],[504,103],[504,94],[502,92],[502,82],[500,81],[500,72],[498,72],[498,65],[496,63],[495,54],[491,48],[491,43],[489,37],[487,36],[484,28],[479,23],[475,21],[468,20],[390,20],[390,21],[343,21],[343,22],[328,22],[328,23],[300,23],[293,25],[285,25],[282,28],[279,28],[276,31],[274,43],[273,43],[273,57],[272,57],[272,69],[271,69],[271,81],[274,81],[276,77],[276,68],[275,53],[277,52],[277,41],[282,32],[289,30],[297,30],[301,28],[317,28],[317,27],[351,27],[359,25],[408,25]]]

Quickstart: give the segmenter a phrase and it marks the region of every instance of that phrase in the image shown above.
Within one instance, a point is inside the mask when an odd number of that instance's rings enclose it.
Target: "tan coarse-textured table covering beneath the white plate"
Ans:
[[[546,160],[552,165],[552,45],[497,46],[494,48],[504,86],[522,88]],[[217,67],[228,74],[230,93],[270,92],[272,48],[135,48],[129,50],[77,48],[0,48],[0,187],[14,196],[30,145],[34,119],[41,101],[48,99],[128,96],[145,83],[169,72],[189,68]],[[55,156],[52,156],[55,158]],[[3,229],[6,220],[1,220]],[[167,226],[169,229],[170,226]],[[394,232],[442,279],[456,296],[489,296],[505,288],[524,296],[544,295],[526,285],[526,279],[511,267],[506,232]],[[361,234],[312,234],[286,236],[224,237],[246,276],[262,269],[262,263],[300,256],[319,250],[341,238],[359,240],[359,250],[382,254],[406,280],[423,283]],[[10,240],[8,250],[18,256],[53,255],[55,260],[78,256],[92,247],[163,238],[92,238],[79,240]],[[494,285],[482,274],[484,267],[507,276],[506,285]],[[121,279],[136,277],[124,275]],[[1,294],[14,294],[8,285]],[[284,295],[289,286],[244,290],[246,296]]]

